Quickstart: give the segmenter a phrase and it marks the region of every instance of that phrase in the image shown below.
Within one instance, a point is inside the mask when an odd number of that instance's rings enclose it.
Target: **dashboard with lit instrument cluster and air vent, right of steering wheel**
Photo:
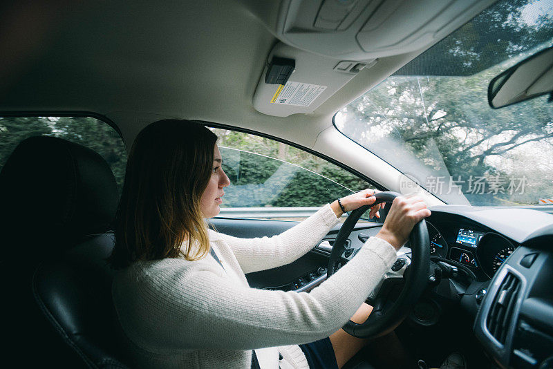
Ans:
[[[475,315],[482,346],[503,368],[553,368],[553,216],[501,207],[431,211],[431,265],[458,269],[456,292]]]

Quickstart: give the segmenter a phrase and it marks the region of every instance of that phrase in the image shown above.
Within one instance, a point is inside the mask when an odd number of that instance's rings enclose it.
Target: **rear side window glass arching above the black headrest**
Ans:
[[[102,155],[121,191],[126,165],[123,140],[109,124],[91,117],[0,117],[0,170],[19,142],[40,135],[82,144]]]

